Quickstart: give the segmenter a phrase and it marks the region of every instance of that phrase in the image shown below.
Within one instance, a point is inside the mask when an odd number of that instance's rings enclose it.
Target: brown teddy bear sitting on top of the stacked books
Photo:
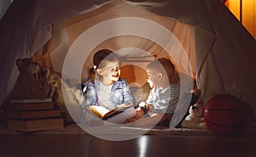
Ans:
[[[49,87],[38,81],[40,66],[32,59],[17,59],[16,65],[20,71],[17,78],[12,99],[41,99],[49,98]]]

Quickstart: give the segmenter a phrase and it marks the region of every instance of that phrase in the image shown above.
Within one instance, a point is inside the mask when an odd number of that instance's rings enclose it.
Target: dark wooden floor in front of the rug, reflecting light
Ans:
[[[113,142],[91,135],[0,135],[0,156],[256,156],[256,137],[144,135]]]

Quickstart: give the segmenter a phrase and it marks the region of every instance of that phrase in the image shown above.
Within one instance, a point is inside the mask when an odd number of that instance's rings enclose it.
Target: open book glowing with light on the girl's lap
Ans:
[[[106,109],[103,106],[92,105],[88,106],[87,110],[102,120],[108,120],[108,118],[112,117],[113,115],[118,115],[119,113],[124,112],[126,109],[130,109],[131,107],[133,107],[133,105],[130,103],[120,104],[114,109]]]

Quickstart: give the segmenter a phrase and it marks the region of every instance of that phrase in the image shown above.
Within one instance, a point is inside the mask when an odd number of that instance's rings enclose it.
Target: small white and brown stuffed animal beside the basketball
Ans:
[[[201,98],[189,107],[189,115],[182,121],[181,126],[192,129],[207,129],[203,121],[203,100]]]

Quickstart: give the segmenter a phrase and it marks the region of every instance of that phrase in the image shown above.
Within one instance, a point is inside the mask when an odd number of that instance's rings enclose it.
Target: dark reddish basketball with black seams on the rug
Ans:
[[[205,107],[204,121],[217,135],[234,135],[241,131],[246,117],[246,105],[230,94],[218,94]]]

